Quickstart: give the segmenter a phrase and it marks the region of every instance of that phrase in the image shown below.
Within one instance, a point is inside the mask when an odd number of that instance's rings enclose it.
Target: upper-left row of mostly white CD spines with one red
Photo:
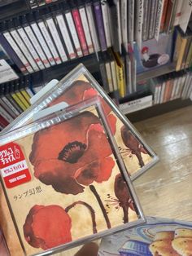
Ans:
[[[98,42],[97,34],[102,26],[102,5],[89,2],[72,10],[43,16],[36,12],[2,23],[0,43],[22,73],[33,73],[100,51],[103,39]]]

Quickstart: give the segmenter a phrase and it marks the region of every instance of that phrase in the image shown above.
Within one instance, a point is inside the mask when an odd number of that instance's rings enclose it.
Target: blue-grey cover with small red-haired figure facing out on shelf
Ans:
[[[159,35],[159,41],[155,38],[142,42],[141,49],[134,44],[134,55],[137,60],[137,73],[142,73],[171,61],[172,33]]]

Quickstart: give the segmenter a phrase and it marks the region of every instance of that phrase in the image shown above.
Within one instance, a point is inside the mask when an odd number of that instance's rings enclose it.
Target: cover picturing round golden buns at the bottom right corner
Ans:
[[[103,239],[98,256],[190,256],[192,223],[146,217],[146,223]]]

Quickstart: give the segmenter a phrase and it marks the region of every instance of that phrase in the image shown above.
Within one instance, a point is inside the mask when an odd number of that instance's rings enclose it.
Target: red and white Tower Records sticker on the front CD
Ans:
[[[17,143],[0,147],[0,169],[7,188],[14,188],[31,180],[24,153]]]

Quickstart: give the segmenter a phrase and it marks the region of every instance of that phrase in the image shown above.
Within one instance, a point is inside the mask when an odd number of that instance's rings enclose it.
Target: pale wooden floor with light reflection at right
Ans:
[[[160,158],[134,182],[144,214],[192,221],[192,106],[134,125]]]

